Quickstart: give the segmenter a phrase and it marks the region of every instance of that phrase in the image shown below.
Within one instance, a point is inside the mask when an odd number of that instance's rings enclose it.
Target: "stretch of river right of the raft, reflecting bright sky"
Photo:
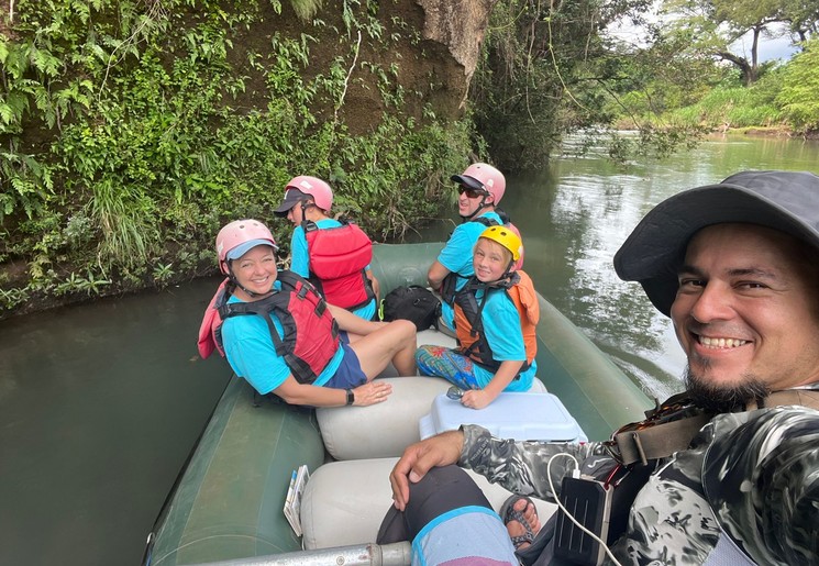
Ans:
[[[523,234],[538,290],[648,393],[663,398],[679,390],[685,357],[669,320],[639,284],[617,277],[615,253],[672,195],[744,169],[816,170],[817,156],[816,142],[729,136],[621,170],[593,152],[555,159],[545,175],[509,179],[502,206]]]

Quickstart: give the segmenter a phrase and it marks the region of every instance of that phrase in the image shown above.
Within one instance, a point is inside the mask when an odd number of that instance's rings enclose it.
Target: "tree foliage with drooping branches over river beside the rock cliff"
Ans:
[[[568,132],[584,131],[587,146],[607,143],[613,159],[666,155],[697,142],[705,129],[641,119],[654,112],[640,93],[657,86],[663,73],[685,79],[701,68],[696,60],[669,65],[678,44],[623,49],[607,35],[617,21],[646,24],[651,0],[502,0],[492,13],[485,57],[473,79],[471,102],[476,130],[506,170],[544,168]],[[661,54],[664,53],[664,56]],[[668,81],[662,87],[667,88]],[[679,100],[694,92],[678,84]],[[637,95],[632,95],[637,93]],[[632,108],[635,102],[642,108]],[[623,137],[618,129],[629,118]]]

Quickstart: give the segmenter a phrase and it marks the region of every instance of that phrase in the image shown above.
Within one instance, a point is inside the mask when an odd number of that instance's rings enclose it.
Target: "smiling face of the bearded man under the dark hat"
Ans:
[[[817,264],[815,251],[775,230],[699,231],[671,310],[689,386],[743,396],[819,381]]]

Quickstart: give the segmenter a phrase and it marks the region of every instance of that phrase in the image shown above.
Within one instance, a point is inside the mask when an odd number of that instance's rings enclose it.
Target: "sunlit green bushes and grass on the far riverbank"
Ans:
[[[685,38],[660,37],[634,54],[643,80],[611,102],[616,123],[702,132],[771,129],[815,136],[819,131],[818,41],[803,43],[787,62],[760,65],[757,78],[748,85],[741,69],[691,51]],[[669,51],[674,42],[680,48]]]

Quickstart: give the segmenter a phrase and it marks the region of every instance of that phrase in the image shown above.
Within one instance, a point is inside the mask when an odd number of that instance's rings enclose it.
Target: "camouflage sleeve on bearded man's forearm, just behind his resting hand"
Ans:
[[[546,469],[549,462],[554,487],[560,493],[561,480],[588,456],[605,454],[601,443],[546,443],[516,442],[494,437],[486,429],[467,424],[461,428],[464,447],[458,465],[485,476],[516,493],[535,496],[554,501],[549,486]],[[554,457],[558,454],[573,456]]]

